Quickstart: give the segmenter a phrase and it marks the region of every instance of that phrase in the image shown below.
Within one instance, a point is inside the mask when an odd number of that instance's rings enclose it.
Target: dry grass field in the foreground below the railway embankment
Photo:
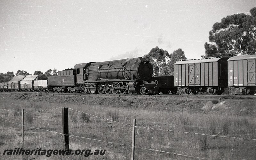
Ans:
[[[58,107],[68,107],[88,114],[104,117],[117,122],[132,125],[136,118],[135,159],[197,159],[173,155],[172,153],[201,157],[205,159],[255,159],[256,141],[234,138],[213,137],[181,133],[210,134],[256,139],[256,118],[251,115],[227,115],[207,112],[195,112],[189,109],[140,109],[104,105],[49,103],[31,101],[0,100],[0,118],[22,123],[21,110],[37,111]],[[17,111],[17,112],[15,112]],[[62,110],[25,113],[24,148],[25,149],[63,149]],[[22,146],[22,126],[0,120],[0,159],[82,159],[83,155],[51,157],[30,155],[3,155],[5,149]],[[29,128],[35,127],[40,129]],[[155,128],[155,129],[149,129]],[[169,129],[172,131],[156,130]],[[70,149],[106,149],[104,156],[92,155],[87,159],[131,159],[132,127],[105,119],[86,115],[69,109],[69,134],[86,137],[70,137]],[[101,140],[100,141],[95,141]],[[107,143],[113,142],[113,143]],[[124,145],[120,145],[124,144]],[[148,150],[150,149],[150,150]],[[161,153],[161,150],[170,153]]]

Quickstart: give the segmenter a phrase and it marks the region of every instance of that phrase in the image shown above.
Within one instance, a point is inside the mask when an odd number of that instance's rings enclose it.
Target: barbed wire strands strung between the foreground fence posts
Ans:
[[[52,110],[56,110],[56,109],[60,109],[60,108],[64,108],[64,107],[57,107],[57,108],[51,108],[51,109],[44,109],[44,110],[37,110],[37,111],[28,111],[28,112],[24,112],[24,113],[43,113],[43,114],[51,114],[51,115],[61,115],[61,114],[53,114],[53,113],[44,113],[45,111],[52,111]],[[68,108],[68,107],[65,107],[65,108]],[[221,138],[228,138],[228,139],[237,139],[237,140],[248,140],[248,141],[255,141],[256,139],[253,139],[253,138],[241,138],[241,137],[235,137],[235,136],[220,136],[220,135],[211,135],[211,134],[205,134],[205,133],[194,133],[194,132],[186,132],[186,131],[179,131],[179,130],[174,130],[174,129],[160,129],[160,128],[151,128],[151,127],[146,127],[146,126],[133,126],[131,124],[127,124],[127,123],[123,123],[123,122],[118,122],[118,121],[115,121],[115,120],[111,120],[111,119],[108,119],[108,118],[105,118],[105,117],[101,117],[101,116],[97,116],[97,115],[92,115],[92,114],[89,114],[89,113],[85,113],[85,112],[82,112],[82,111],[79,111],[79,110],[76,110],[76,109],[73,109],[73,108],[68,108],[69,110],[71,111],[75,111],[77,113],[82,113],[82,114],[86,114],[86,115],[89,115],[89,116],[92,116],[92,117],[95,117],[95,118],[99,118],[99,119],[103,119],[103,120],[106,120],[106,121],[109,121],[109,122],[114,122],[114,123],[117,123],[117,124],[121,124],[121,125],[124,125],[124,126],[128,126],[128,127],[135,127],[135,128],[138,128],[138,129],[147,129],[147,130],[156,130],[156,131],[167,131],[167,132],[172,132],[174,134],[174,132],[176,133],[184,133],[184,134],[192,134],[192,135],[201,135],[201,136],[211,136],[211,137],[221,137]],[[10,111],[10,112],[15,112],[15,113],[22,113],[20,112],[19,110],[9,110],[9,109],[4,109],[4,108],[0,108],[0,110],[4,110],[4,111]],[[1,121],[4,121],[4,122],[10,122],[10,123],[13,123],[13,124],[17,124],[19,126],[22,126],[22,124],[20,123],[17,123],[17,122],[12,122],[10,120],[7,120],[7,119],[4,119],[4,118],[0,118]],[[128,121],[131,121],[131,119],[123,119],[123,120],[128,120]],[[147,121],[139,121],[139,122],[147,122]],[[165,123],[165,124],[168,124],[168,123]],[[38,132],[26,132],[26,133],[55,133],[55,134],[59,134],[59,135],[62,135],[62,136],[69,136],[71,137],[72,139],[75,139],[75,140],[78,140],[77,138],[81,138],[81,139],[86,139],[86,140],[89,140],[89,141],[97,141],[97,142],[101,142],[101,143],[109,143],[109,144],[115,144],[117,146],[126,146],[126,147],[132,147],[132,145],[129,145],[129,144],[123,144],[123,143],[116,143],[116,142],[110,142],[110,141],[107,141],[107,140],[100,140],[100,139],[95,139],[95,138],[89,138],[89,137],[84,137],[84,136],[78,136],[78,135],[73,135],[73,134],[63,134],[63,133],[60,133],[60,132],[57,132],[57,131],[52,131],[52,130],[48,130],[48,129],[42,129],[42,128],[38,128],[38,127],[32,127],[32,126],[29,126],[29,125],[23,125],[24,127],[27,127],[27,128],[30,128],[30,129],[36,129],[36,130],[41,130],[41,131],[38,131]],[[137,133],[138,135],[138,133]],[[78,140],[80,141],[80,140]],[[80,141],[82,142],[82,141]],[[85,143],[87,145],[90,145],[88,143]],[[92,146],[92,145],[90,145]],[[96,147],[97,148],[97,147]],[[172,150],[172,151],[165,151],[165,150],[157,150],[157,149],[150,149],[150,148],[145,148],[145,147],[135,147],[137,149],[143,149],[143,150],[151,150],[151,151],[156,151],[156,152],[160,152],[160,153],[168,153],[168,154],[172,154],[172,155],[176,155],[176,156],[184,156],[184,157],[190,157],[190,158],[197,158],[197,159],[205,159],[205,158],[202,158],[202,157],[195,157],[195,156],[189,156],[189,155],[184,155],[184,154],[178,154],[178,153],[174,153],[175,150]],[[112,153],[112,154],[115,154],[113,152],[109,152],[109,153]],[[128,159],[127,157],[123,157],[125,159]]]

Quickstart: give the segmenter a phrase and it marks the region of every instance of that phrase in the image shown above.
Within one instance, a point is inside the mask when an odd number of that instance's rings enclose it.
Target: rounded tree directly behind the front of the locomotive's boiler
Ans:
[[[156,46],[156,48],[152,48],[151,51],[145,55],[145,57],[149,57],[151,64],[153,65],[153,74],[154,75],[163,75],[164,68],[166,68],[166,63],[169,61],[169,53],[160,49]]]

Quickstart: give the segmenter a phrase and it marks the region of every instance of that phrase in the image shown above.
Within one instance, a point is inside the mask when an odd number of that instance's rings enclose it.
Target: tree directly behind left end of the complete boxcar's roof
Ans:
[[[181,59],[187,59],[185,57],[185,52],[182,51],[181,48],[175,50],[172,52],[171,54],[171,59],[170,61],[167,63],[168,69],[169,69],[169,75],[174,75],[174,63],[176,63],[177,61],[181,60]]]

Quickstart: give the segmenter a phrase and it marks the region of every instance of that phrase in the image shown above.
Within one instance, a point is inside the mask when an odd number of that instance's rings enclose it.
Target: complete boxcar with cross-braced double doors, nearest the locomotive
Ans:
[[[186,94],[221,94],[228,87],[228,57],[180,60],[174,64],[174,86]]]

